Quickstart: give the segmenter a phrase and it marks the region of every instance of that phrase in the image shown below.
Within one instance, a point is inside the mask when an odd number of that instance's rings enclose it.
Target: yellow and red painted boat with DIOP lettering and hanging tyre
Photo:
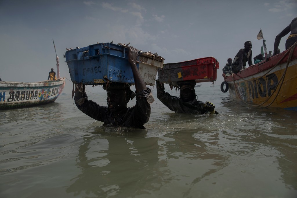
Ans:
[[[244,103],[261,107],[281,107],[297,111],[297,43],[225,78],[222,92],[240,98]],[[224,88],[224,84],[226,87]]]

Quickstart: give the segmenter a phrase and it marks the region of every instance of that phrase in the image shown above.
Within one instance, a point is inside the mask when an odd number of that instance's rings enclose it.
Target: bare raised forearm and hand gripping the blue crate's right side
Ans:
[[[134,47],[130,46],[128,47],[129,54],[128,54],[128,60],[132,69],[133,77],[134,77],[134,82],[135,82],[135,91],[136,93],[145,90],[146,89],[146,84],[141,77],[137,67],[136,67],[136,59],[138,56],[138,50],[135,49]]]

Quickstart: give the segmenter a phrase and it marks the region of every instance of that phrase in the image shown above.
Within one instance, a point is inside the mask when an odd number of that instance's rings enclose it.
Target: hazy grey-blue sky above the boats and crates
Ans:
[[[267,52],[273,51],[275,36],[296,16],[296,0],[0,0],[0,76],[3,81],[46,80],[50,68],[56,71],[54,39],[60,76],[70,80],[65,48],[113,40],[157,52],[165,63],[214,56],[220,65],[215,85],[220,85],[227,59],[245,41],[252,42],[252,58],[260,54],[262,28]],[[64,92],[71,91],[67,80]]]

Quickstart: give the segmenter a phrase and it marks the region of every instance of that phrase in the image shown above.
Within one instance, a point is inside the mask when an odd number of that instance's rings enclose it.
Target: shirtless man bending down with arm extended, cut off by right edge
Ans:
[[[297,42],[297,17],[294,18],[291,21],[290,25],[288,25],[285,29],[282,30],[282,32],[280,32],[275,37],[273,56],[277,54],[277,48],[279,46],[279,42],[280,42],[281,38],[290,32],[291,32],[291,34],[289,35],[289,37],[287,38],[287,41],[286,41],[286,50],[289,49],[294,43]]]

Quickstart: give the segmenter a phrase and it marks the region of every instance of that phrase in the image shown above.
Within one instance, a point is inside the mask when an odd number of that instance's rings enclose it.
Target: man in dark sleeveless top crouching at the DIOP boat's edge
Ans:
[[[238,73],[239,71],[245,69],[246,63],[248,62],[249,66],[252,63],[252,42],[246,41],[244,43],[244,48],[240,49],[236,54],[233,63],[232,63],[232,70],[233,73]]]

